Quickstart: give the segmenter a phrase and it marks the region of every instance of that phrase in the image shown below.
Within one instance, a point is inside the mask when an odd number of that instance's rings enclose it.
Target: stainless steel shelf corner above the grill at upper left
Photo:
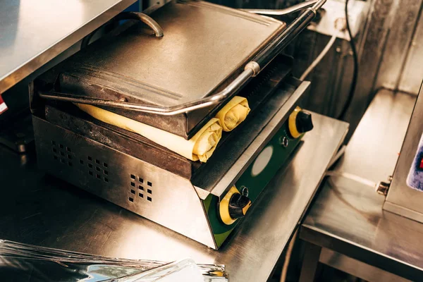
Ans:
[[[135,0],[0,0],[0,94]]]

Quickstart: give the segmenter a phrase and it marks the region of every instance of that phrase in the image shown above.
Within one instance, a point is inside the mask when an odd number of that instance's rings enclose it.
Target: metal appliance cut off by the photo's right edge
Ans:
[[[423,222],[423,91],[413,111],[384,209]]]

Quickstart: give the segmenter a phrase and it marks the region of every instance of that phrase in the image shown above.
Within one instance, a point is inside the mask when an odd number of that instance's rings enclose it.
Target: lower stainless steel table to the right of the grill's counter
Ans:
[[[414,104],[408,94],[376,94],[336,169],[387,180]],[[366,281],[423,281],[423,224],[383,211],[383,202],[366,185],[326,181],[300,228],[308,242],[300,281],[313,280],[319,261]]]

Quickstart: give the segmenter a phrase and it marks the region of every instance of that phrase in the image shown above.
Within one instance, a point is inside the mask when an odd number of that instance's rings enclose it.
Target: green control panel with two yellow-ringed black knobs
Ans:
[[[276,172],[286,164],[304,133],[312,127],[311,115],[297,107],[235,186],[221,200],[210,194],[203,201],[217,247],[228,238]]]

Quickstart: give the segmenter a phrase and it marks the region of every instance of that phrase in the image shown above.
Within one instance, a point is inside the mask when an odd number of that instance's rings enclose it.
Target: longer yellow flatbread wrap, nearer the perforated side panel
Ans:
[[[75,104],[82,111],[99,121],[115,125],[119,128],[132,131],[147,137],[149,140],[170,149],[192,161],[206,162],[212,156],[219,140],[222,137],[222,127],[218,118],[212,118],[190,140],[168,133],[167,131],[154,128],[153,126],[134,121],[111,111],[87,104]]]

